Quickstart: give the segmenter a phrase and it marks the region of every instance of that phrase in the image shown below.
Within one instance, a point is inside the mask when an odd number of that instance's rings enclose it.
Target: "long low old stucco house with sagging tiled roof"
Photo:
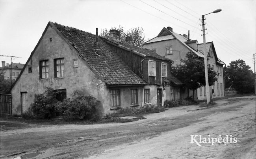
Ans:
[[[49,22],[12,86],[13,114],[25,112],[46,87],[71,98],[82,90],[101,101],[102,113],[122,107],[162,105],[182,83],[172,61],[156,52]]]

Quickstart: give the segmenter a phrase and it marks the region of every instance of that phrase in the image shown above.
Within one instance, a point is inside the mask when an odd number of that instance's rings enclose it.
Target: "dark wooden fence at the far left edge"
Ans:
[[[11,94],[0,94],[0,117],[11,116]]]

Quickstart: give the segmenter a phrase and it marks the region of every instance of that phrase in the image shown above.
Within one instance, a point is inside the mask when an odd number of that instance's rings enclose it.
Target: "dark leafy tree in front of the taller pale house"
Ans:
[[[183,65],[173,67],[171,72],[180,81],[185,84],[185,87],[193,90],[193,101],[195,90],[199,87],[205,86],[205,73],[204,73],[204,59],[198,59],[198,56],[193,52],[186,55],[186,60],[181,60]],[[216,72],[212,68],[208,68],[208,81],[209,85],[213,85],[217,81]]]

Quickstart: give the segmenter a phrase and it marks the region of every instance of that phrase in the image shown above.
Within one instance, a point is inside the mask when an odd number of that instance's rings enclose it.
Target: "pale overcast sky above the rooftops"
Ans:
[[[0,55],[26,63],[49,21],[93,34],[96,27],[142,27],[145,40],[170,26],[202,43],[201,16],[222,9],[205,16],[206,42],[213,41],[226,65],[243,59],[253,70],[255,8],[256,0],[0,0]],[[9,57],[0,61],[11,63]]]

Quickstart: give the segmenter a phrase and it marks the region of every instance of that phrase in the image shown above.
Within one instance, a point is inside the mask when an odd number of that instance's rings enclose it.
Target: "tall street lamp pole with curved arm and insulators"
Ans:
[[[217,9],[211,13],[218,13],[221,9]],[[208,14],[211,14],[208,13]],[[205,42],[205,30],[204,25],[204,16],[207,14],[202,15],[202,27],[203,27],[203,40],[204,40],[204,72],[205,72],[205,87],[206,87],[206,103],[208,104],[210,102],[210,94],[209,94],[209,82],[208,82],[208,66],[207,66],[207,53],[206,53],[206,42]]]

